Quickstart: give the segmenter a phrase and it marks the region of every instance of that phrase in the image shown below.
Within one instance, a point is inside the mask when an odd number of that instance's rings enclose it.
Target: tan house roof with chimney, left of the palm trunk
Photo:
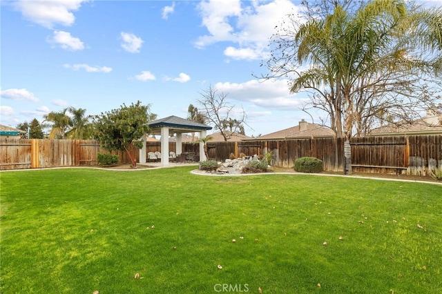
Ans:
[[[278,132],[262,135],[257,140],[276,140],[276,139],[302,139],[302,138],[325,138],[336,137],[334,131],[327,126],[318,124],[310,124],[304,119],[299,122],[298,126],[278,130]]]

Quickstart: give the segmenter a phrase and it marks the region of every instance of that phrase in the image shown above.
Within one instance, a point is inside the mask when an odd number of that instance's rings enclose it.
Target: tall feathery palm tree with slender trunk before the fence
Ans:
[[[407,115],[425,104],[412,97],[419,81],[413,70],[422,69],[422,62],[407,51],[410,23],[422,20],[418,14],[410,20],[405,1],[374,0],[354,14],[336,6],[333,14],[296,31],[294,58],[310,67],[296,72],[290,90],[314,91],[312,106],[325,110],[337,137],[345,138],[346,173],[352,173],[349,139],[369,119],[393,110]]]

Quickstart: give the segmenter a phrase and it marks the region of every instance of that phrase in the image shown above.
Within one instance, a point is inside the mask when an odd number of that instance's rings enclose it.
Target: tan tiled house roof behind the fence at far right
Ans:
[[[412,124],[388,124],[374,128],[369,135],[442,135],[442,112],[427,110],[425,117],[413,121]]]

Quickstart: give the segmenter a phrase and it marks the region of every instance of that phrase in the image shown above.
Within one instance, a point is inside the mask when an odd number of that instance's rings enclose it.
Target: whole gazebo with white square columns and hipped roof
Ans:
[[[182,134],[184,133],[200,133],[200,138],[206,137],[207,130],[211,130],[211,126],[206,126],[195,121],[182,119],[181,117],[164,117],[148,123],[151,128],[151,134],[161,135],[161,165],[169,165],[169,136],[176,135],[177,149],[176,153],[182,153]],[[140,149],[140,164],[146,163],[146,137],[143,136],[143,148]],[[200,160],[206,160],[204,154],[204,144],[200,142]]]

